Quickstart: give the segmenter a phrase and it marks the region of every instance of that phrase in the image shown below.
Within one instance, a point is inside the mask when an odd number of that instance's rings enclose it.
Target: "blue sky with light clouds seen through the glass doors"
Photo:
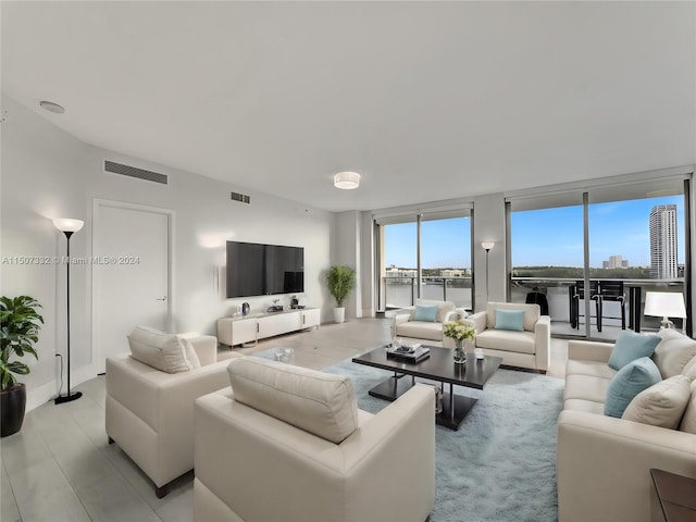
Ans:
[[[679,262],[684,262],[684,204],[681,196],[589,206],[589,265],[601,268],[610,256],[631,266],[650,264],[648,217],[656,204],[676,204]],[[512,265],[583,265],[583,209],[561,207],[512,214]],[[423,268],[470,268],[470,220],[422,224]],[[387,225],[386,265],[415,268],[415,223]]]

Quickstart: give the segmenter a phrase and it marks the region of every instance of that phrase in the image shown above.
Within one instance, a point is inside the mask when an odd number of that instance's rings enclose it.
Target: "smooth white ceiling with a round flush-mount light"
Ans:
[[[696,163],[694,2],[1,10],[2,90],[42,117],[327,210]],[[362,174],[360,189],[333,188],[343,170]]]

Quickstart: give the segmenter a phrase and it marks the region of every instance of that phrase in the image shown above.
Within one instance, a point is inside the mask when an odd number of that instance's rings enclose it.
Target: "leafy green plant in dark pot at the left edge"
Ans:
[[[27,375],[29,366],[22,361],[11,361],[13,356],[30,353],[38,360],[34,344],[38,341],[44,318],[36,311],[41,304],[28,296],[11,299],[0,297],[0,436],[16,433],[24,422],[26,387],[15,376]]]

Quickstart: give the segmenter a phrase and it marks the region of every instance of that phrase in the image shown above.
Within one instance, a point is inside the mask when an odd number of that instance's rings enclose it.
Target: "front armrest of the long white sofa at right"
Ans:
[[[649,522],[650,469],[696,478],[696,435],[563,411],[556,468],[560,522]]]

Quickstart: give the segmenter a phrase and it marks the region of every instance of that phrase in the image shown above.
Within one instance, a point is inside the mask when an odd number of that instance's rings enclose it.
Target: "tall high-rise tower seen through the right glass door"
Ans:
[[[650,277],[676,277],[675,204],[658,204],[650,211]]]

